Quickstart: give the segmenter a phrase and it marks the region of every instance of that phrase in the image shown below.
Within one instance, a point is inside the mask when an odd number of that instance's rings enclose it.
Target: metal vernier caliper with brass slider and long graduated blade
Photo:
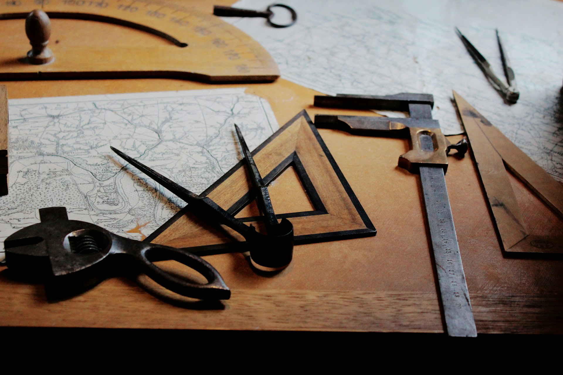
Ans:
[[[315,126],[409,139],[411,149],[399,156],[399,166],[421,176],[448,335],[477,336],[444,178],[448,152],[455,148],[464,155],[467,141],[452,145],[442,134],[438,120],[432,119],[434,97],[430,94],[315,96],[315,106],[409,112],[410,118],[316,115]]]

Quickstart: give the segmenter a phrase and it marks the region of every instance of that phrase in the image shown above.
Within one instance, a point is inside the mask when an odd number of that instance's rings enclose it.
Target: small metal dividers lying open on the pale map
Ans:
[[[498,48],[501,50],[502,67],[508,85],[504,84],[504,82],[502,82],[497,77],[497,75],[493,73],[493,69],[491,69],[489,62],[485,59],[485,57],[483,57],[483,55],[481,55],[481,53],[479,53],[479,51],[477,51],[477,48],[473,47],[473,44],[471,44],[471,42],[466,37],[463,36],[463,34],[461,33],[461,31],[459,31],[458,28],[455,28],[455,33],[462,40],[465,48],[467,48],[467,51],[470,53],[471,57],[473,57],[473,60],[475,60],[476,64],[479,66],[481,71],[485,74],[485,77],[489,80],[490,84],[493,85],[495,90],[497,90],[499,94],[501,94],[501,96],[507,102],[516,103],[516,101],[520,97],[520,92],[516,87],[516,78],[514,75],[514,70],[512,70],[512,67],[510,66],[510,60],[508,59],[506,49],[503,47],[501,37],[498,34],[498,30],[497,30]]]

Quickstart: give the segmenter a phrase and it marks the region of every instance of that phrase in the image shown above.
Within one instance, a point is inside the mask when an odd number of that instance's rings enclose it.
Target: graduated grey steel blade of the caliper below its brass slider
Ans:
[[[476,337],[444,170],[421,166],[420,175],[448,335]]]

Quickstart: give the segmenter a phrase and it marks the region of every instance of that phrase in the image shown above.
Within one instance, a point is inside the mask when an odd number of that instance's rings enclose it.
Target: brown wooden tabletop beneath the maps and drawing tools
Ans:
[[[69,30],[75,26],[72,20],[58,21]],[[315,108],[313,96],[318,92],[283,79],[242,85],[173,79],[0,84],[7,85],[9,98],[245,87],[247,93],[269,100],[280,125],[302,109],[311,118],[316,113],[369,114]],[[471,104],[479,110],[479,103]],[[47,302],[42,285],[15,281],[1,267],[1,324],[443,332],[419,178],[397,167],[408,143],[337,130],[319,132],[377,228],[376,237],[298,246],[291,265],[273,277],[253,273],[242,254],[207,256],[232,291],[230,300],[212,304],[168,293],[146,277],[109,279],[73,299]],[[457,142],[461,137],[449,138]],[[563,260],[503,256],[471,152],[464,159],[450,157],[449,162],[446,183],[477,331],[562,333]],[[300,186],[292,173],[288,170],[271,185],[276,212],[307,209],[306,198],[295,193]],[[512,178],[512,184],[529,228],[563,233],[563,220],[519,181]]]

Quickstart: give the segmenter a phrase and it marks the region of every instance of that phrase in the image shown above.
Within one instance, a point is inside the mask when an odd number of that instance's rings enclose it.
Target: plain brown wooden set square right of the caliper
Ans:
[[[563,185],[531,160],[457,92],[453,93],[504,251],[563,254],[563,236],[540,235],[526,228],[505,165],[562,218]]]

